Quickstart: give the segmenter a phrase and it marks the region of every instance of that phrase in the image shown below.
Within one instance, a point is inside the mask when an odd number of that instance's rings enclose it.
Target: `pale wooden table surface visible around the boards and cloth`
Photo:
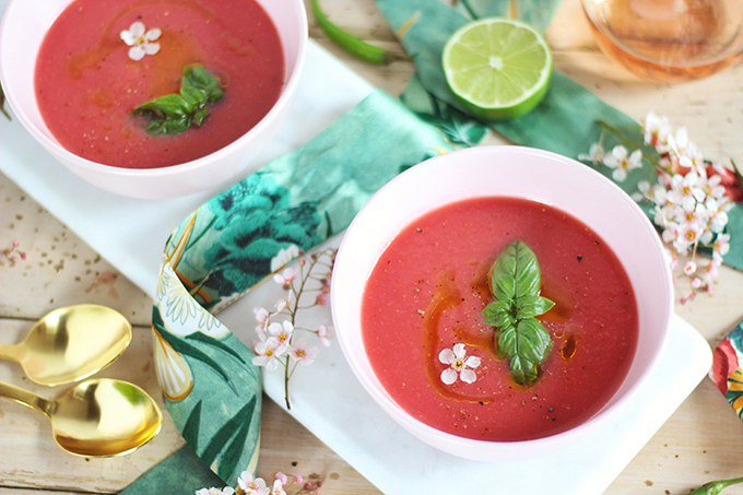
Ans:
[[[397,45],[373,0],[321,3],[330,19],[350,32],[384,46]],[[380,68],[350,59],[325,39],[311,14],[309,27],[314,39],[392,95],[400,94],[413,73],[408,62]],[[688,129],[706,157],[732,157],[743,164],[743,64],[703,81],[641,82],[597,49],[578,0],[564,0],[547,37],[556,69],[608,103],[635,119],[648,110],[664,115],[674,127]],[[5,126],[20,123],[0,119],[0,128]],[[134,341],[104,375],[133,381],[158,397],[151,358],[150,298],[60,224],[54,212],[42,209],[0,174],[0,342],[19,342],[40,316],[76,303],[108,305],[130,319]],[[723,268],[712,294],[676,305],[676,313],[715,346],[743,320],[743,273]],[[14,363],[0,362],[0,379],[55,397],[31,384]],[[270,400],[266,400],[262,420],[259,475],[272,479],[283,471],[319,476],[328,494],[379,493]],[[182,443],[166,414],[160,436],[130,456],[78,458],[55,445],[45,416],[2,401],[0,495],[118,493]],[[736,476],[743,476],[743,424],[712,382],[704,379],[605,494],[681,495],[704,482]],[[497,486],[497,480],[484,479],[483,486]],[[184,493],[197,488],[184,487]],[[743,487],[724,493],[743,494]]]

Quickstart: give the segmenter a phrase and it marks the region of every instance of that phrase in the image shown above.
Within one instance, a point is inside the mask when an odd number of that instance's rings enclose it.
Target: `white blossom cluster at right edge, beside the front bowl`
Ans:
[[[641,144],[608,122],[598,123],[602,129],[599,142],[578,158],[613,168],[612,178],[617,182],[640,168],[642,160],[652,165],[649,180],[638,184],[639,192],[633,198],[652,207],[650,214],[667,244],[671,264],[681,256],[689,257],[683,276],[688,280],[691,294],[681,303],[694,299],[697,290],[711,291],[717,269],[730,249],[730,235],[724,232],[728,212],[735,201],[743,200],[735,164],[728,168],[705,160],[688,140],[686,129],[674,132],[665,118],[653,113],[632,130],[642,134]],[[603,148],[605,133],[618,142],[610,152]],[[707,263],[697,262],[703,248],[711,251]]]

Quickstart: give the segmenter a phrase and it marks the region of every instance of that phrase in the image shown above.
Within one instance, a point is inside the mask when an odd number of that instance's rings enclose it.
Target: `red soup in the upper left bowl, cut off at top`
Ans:
[[[154,55],[135,60],[121,33],[144,25]],[[141,42],[146,39],[141,39]],[[138,106],[180,91],[184,69],[219,79],[222,101],[201,126],[150,135]],[[38,55],[42,115],[70,152],[93,162],[154,168],[189,162],[234,142],[279,98],[284,56],[275,26],[255,0],[75,0]]]

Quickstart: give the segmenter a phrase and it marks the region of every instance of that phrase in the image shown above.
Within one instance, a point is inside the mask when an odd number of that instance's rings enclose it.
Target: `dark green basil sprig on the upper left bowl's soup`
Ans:
[[[177,134],[192,123],[201,126],[209,115],[207,104],[216,103],[223,96],[219,79],[202,66],[188,66],[184,69],[179,94],[155,98],[138,106],[132,114],[153,119],[146,129],[150,134]]]

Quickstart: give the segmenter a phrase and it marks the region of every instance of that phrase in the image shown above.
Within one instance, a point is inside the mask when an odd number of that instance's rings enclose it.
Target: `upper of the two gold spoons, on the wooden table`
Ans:
[[[81,304],[44,316],[20,344],[0,344],[0,358],[21,364],[28,378],[47,387],[79,381],[121,355],[131,323],[106,306]]]

